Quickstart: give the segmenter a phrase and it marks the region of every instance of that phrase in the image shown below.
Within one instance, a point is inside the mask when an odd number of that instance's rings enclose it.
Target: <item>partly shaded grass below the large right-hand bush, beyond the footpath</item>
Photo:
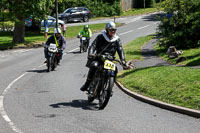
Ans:
[[[166,60],[172,64],[176,64],[176,60],[175,59],[169,59],[167,54],[166,54],[166,50],[162,47],[159,47],[159,45],[157,44],[155,46],[156,52],[157,54],[163,59]],[[186,65],[186,66],[197,66],[200,65],[200,48],[195,48],[195,49],[187,49],[187,50],[183,50],[183,54],[179,55],[179,57],[185,57],[186,60],[179,62],[178,65]]]

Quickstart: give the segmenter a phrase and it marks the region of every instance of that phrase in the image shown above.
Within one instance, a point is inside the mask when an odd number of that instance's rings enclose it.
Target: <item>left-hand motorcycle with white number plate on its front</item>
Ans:
[[[55,70],[59,60],[59,52],[56,44],[51,43],[48,47],[48,58],[47,58],[47,72]]]

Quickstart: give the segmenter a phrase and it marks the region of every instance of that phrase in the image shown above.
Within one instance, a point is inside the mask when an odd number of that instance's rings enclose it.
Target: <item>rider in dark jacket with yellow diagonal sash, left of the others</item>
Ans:
[[[54,29],[54,34],[48,38],[46,44],[44,45],[44,55],[45,58],[48,58],[48,46],[50,45],[50,43],[54,43],[57,45],[58,47],[58,52],[59,52],[59,60],[58,60],[58,64],[60,63],[60,60],[62,59],[62,55],[63,55],[63,50],[66,47],[66,39],[64,38],[63,35],[61,35],[61,30],[60,28],[55,28]],[[47,63],[47,60],[44,62]]]

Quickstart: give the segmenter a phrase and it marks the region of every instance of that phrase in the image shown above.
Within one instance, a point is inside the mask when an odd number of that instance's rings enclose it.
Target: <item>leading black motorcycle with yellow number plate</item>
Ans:
[[[112,96],[112,88],[114,86],[117,67],[114,61],[121,64],[115,57],[109,55],[97,55],[99,65],[95,66],[94,77],[87,90],[88,102],[91,103],[95,99],[99,100],[99,109],[104,109]]]

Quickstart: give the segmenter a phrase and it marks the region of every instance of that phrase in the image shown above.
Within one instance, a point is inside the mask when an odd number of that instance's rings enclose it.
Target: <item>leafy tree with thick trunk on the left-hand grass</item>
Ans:
[[[9,14],[15,22],[13,32],[13,43],[24,42],[25,36],[25,19],[30,16],[43,16],[48,7],[53,4],[54,0],[6,0],[8,2]]]

